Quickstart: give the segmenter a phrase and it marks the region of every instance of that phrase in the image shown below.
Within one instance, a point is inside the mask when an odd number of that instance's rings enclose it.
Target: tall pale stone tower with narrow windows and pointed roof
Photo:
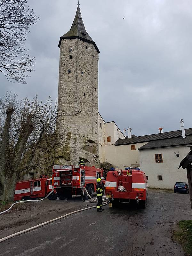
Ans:
[[[99,49],[85,30],[79,4],[71,29],[60,37],[58,106],[67,112],[70,128],[62,164],[99,166],[98,60]]]

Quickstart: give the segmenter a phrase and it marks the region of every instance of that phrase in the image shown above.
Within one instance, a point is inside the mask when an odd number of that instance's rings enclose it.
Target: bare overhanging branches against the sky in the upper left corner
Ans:
[[[26,72],[33,71],[35,62],[23,47],[38,20],[27,4],[28,0],[0,0],[0,72],[19,83],[25,83]]]

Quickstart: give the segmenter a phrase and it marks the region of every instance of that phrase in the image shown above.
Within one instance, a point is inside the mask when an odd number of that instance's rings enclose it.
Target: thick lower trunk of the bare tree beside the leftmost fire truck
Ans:
[[[9,173],[12,171],[9,170]],[[4,191],[3,191],[3,201],[7,203],[11,203],[14,200],[14,195],[15,195],[15,186],[17,182],[17,176],[14,173],[10,177],[5,177],[5,182],[4,182]]]

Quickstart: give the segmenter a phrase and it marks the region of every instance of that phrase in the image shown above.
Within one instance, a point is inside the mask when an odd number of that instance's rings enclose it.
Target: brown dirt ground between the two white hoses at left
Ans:
[[[0,217],[0,238],[60,217],[69,212],[86,208],[86,204],[86,202],[81,201],[80,197],[76,197],[67,201],[45,199],[41,202],[13,205],[9,212],[2,214]],[[8,209],[10,206],[11,204],[6,204],[0,211]]]

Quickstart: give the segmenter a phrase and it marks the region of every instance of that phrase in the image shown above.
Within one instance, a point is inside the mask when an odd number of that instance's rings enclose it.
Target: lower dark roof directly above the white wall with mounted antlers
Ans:
[[[152,140],[145,144],[144,146],[138,148],[138,150],[143,149],[153,149],[153,148],[168,148],[168,147],[177,147],[177,146],[187,146],[192,144],[192,135],[182,136],[176,138],[168,138],[163,140]]]

